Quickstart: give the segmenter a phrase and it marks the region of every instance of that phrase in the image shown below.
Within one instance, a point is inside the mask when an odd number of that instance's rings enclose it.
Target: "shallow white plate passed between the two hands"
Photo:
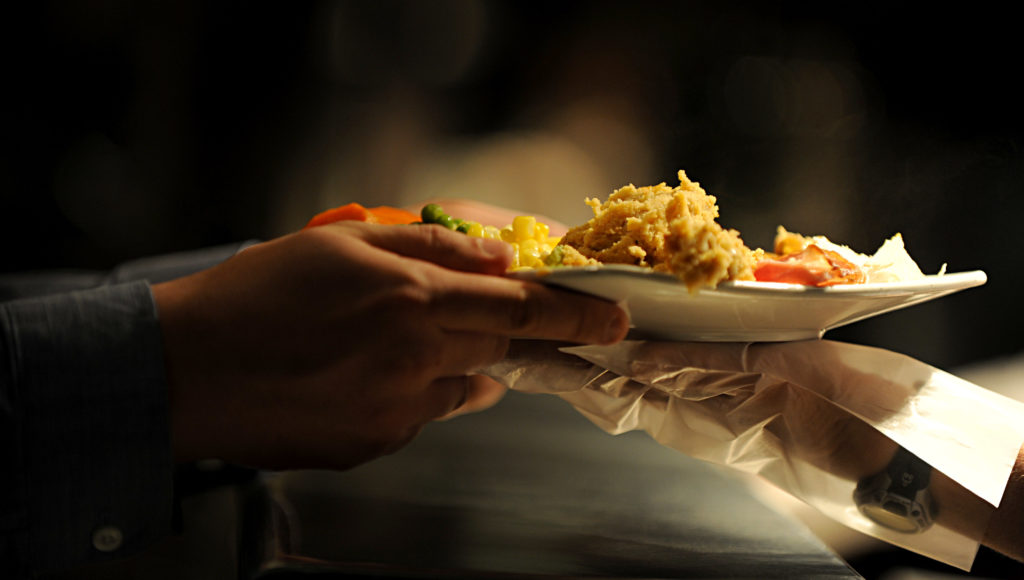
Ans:
[[[666,340],[783,341],[827,330],[985,283],[984,272],[928,276],[913,282],[814,288],[727,282],[691,294],[670,275],[608,264],[517,271],[512,276],[622,303],[634,328]]]

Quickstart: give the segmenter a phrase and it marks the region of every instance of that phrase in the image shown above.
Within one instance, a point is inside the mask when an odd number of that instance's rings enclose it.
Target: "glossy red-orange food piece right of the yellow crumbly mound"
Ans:
[[[866,276],[837,252],[811,244],[796,253],[761,260],[754,267],[754,278],[758,282],[823,287],[861,284]]]

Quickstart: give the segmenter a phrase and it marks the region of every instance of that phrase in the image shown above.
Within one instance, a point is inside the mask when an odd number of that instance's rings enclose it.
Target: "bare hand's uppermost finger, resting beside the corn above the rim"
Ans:
[[[501,240],[473,238],[440,225],[336,225],[358,233],[378,248],[461,272],[500,275],[512,263],[512,248]]]

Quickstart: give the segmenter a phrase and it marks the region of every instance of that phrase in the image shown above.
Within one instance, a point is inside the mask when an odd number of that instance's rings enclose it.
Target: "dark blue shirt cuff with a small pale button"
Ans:
[[[0,505],[30,568],[120,558],[169,534],[174,463],[150,286],[0,304],[0,414],[13,418],[24,473]]]

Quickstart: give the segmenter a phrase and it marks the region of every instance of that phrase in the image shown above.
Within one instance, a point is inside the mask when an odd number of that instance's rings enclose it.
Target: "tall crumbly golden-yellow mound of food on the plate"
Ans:
[[[727,280],[754,280],[760,250],[722,227],[714,196],[679,171],[679,185],[627,185],[601,203],[594,217],[562,238],[563,265],[624,263],[676,276],[690,291]]]

